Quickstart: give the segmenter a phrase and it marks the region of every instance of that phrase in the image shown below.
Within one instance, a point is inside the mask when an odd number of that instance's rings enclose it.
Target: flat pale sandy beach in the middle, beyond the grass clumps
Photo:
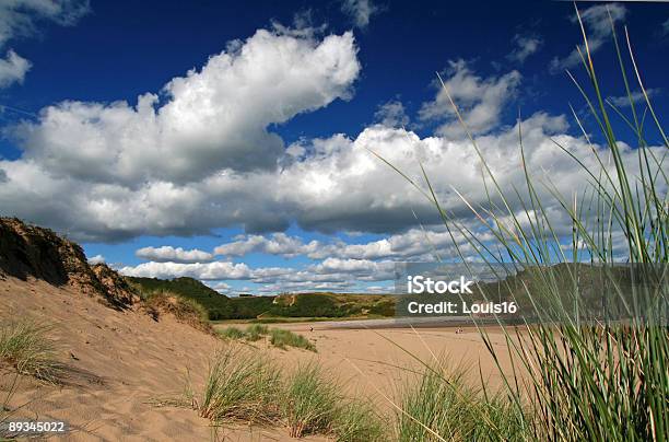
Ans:
[[[349,322],[347,322],[350,324]],[[271,324],[269,327],[284,328],[307,337],[316,345],[317,353],[309,351],[281,351],[269,342],[256,344],[265,347],[286,365],[316,360],[330,373],[336,373],[353,393],[371,397],[379,406],[391,408],[390,400],[397,397],[398,388],[424,369],[424,362],[435,359],[447,367],[467,371],[470,382],[481,382],[479,367],[485,382],[492,387],[502,386],[500,370],[490,357],[479,332],[473,327],[443,328],[339,328],[341,322],[315,322],[298,324]],[[225,328],[248,324],[225,324]],[[337,326],[337,328],[333,328]],[[500,363],[510,372],[504,334],[498,327],[490,327],[489,336],[500,349]]]

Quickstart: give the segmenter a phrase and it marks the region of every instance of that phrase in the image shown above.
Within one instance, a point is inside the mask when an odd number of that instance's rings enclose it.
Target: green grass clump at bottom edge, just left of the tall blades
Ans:
[[[465,372],[439,362],[426,365],[400,392],[396,433],[400,442],[524,440],[524,416],[510,400],[488,397]]]

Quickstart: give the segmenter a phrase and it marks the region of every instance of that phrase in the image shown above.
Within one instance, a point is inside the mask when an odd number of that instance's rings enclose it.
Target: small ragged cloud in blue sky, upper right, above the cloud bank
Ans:
[[[420,111],[423,120],[446,120],[436,129],[436,133],[445,137],[463,135],[460,123],[455,119],[448,94],[463,114],[469,130],[481,135],[500,124],[502,109],[516,94],[521,79],[515,70],[501,77],[482,79],[463,60],[449,61],[446,72],[449,78],[444,82],[444,88],[438,84],[434,101],[425,103]]]

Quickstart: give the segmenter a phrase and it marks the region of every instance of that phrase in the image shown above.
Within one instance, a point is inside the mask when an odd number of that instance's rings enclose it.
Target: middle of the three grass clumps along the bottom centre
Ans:
[[[292,438],[330,434],[338,441],[377,441],[384,437],[372,406],[342,394],[343,386],[312,362],[300,365],[284,387],[283,417]]]

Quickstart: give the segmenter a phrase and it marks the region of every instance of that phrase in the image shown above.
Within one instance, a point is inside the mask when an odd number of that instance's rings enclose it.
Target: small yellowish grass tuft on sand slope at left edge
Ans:
[[[0,359],[20,374],[57,383],[63,365],[56,359],[56,346],[47,335],[51,327],[33,321],[0,325]]]

